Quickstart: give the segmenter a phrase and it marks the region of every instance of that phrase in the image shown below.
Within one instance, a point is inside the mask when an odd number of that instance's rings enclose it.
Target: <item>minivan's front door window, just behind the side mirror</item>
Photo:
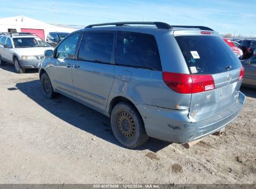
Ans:
[[[56,57],[75,59],[75,50],[77,49],[77,40],[79,35],[80,32],[76,32],[67,37],[67,39],[57,47]]]

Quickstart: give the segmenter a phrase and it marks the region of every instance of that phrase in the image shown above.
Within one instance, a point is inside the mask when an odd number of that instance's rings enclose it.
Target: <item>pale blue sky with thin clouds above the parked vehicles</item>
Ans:
[[[0,17],[27,16],[52,24],[88,25],[117,21],[161,21],[170,25],[204,25],[220,34],[256,36],[256,1],[144,0],[49,1],[0,0]]]

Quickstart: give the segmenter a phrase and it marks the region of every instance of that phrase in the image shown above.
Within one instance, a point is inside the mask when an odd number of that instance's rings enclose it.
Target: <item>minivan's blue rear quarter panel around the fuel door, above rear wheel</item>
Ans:
[[[131,72],[129,82],[122,81],[123,70]],[[161,71],[116,66],[110,101],[116,96],[130,99],[133,104],[148,104],[168,109],[189,109],[191,94],[179,94],[168,88]]]

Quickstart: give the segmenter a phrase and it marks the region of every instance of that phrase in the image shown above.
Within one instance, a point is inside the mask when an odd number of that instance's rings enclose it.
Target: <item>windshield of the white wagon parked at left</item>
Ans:
[[[44,40],[36,37],[13,38],[15,48],[50,47]]]

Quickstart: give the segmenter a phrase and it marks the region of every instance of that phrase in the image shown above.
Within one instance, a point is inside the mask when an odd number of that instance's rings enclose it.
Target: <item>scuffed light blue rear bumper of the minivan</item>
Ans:
[[[199,122],[188,117],[188,110],[171,110],[145,104],[139,104],[136,108],[145,122],[148,136],[182,144],[201,139],[225,127],[238,116],[244,102],[245,96],[239,92],[239,97],[232,106]]]

